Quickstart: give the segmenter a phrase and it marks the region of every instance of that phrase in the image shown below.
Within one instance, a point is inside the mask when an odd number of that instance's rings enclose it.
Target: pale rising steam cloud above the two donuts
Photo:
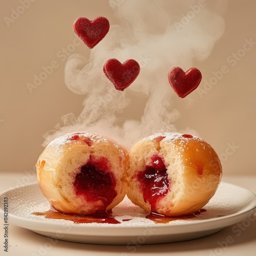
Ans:
[[[66,84],[85,95],[83,109],[77,118],[62,117],[64,126],[48,132],[44,145],[77,131],[106,135],[125,146],[154,133],[176,132],[173,123],[180,114],[173,108],[175,93],[167,74],[172,67],[186,71],[195,67],[194,61],[204,61],[223,34],[226,0],[212,2],[200,1],[205,3],[200,7],[198,1],[111,0],[119,24],[111,25],[88,59],[73,54],[66,64]],[[140,63],[139,76],[124,92],[117,91],[102,71],[110,58]],[[130,99],[129,91],[146,98],[140,120],[118,118],[124,108],[136,110],[138,97]]]

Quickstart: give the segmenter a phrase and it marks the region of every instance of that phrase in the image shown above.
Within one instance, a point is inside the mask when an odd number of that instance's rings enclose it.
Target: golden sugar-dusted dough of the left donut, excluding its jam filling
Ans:
[[[77,136],[76,140],[73,140]],[[88,143],[88,140],[92,143]],[[111,165],[115,177],[117,196],[105,210],[120,203],[126,194],[124,173],[128,155],[115,141],[94,133],[72,133],[56,138],[45,148],[36,163],[37,179],[44,196],[51,206],[69,214],[89,215],[102,208],[102,200],[87,202],[77,196],[74,180],[81,172],[81,166],[90,156],[104,157]]]

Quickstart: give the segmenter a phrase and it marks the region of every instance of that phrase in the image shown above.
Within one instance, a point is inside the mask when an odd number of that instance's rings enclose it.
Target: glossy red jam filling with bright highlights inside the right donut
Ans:
[[[168,193],[169,180],[161,157],[154,155],[151,159],[152,163],[146,165],[145,169],[138,173],[137,179],[141,184],[145,203],[149,202],[151,211],[156,212],[158,200]]]

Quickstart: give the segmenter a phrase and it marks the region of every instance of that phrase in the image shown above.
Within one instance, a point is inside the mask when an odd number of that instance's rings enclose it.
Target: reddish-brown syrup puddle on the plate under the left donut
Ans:
[[[93,215],[73,215],[64,214],[55,210],[48,210],[44,212],[33,212],[36,216],[45,216],[46,219],[55,220],[67,220],[73,221],[74,223],[109,223],[109,224],[119,224],[120,222],[112,217],[108,212],[96,212]]]

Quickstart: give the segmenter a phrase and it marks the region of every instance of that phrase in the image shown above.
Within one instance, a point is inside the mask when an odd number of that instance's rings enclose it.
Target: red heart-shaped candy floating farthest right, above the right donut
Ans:
[[[191,68],[186,73],[179,67],[172,68],[168,73],[170,86],[181,98],[193,92],[202,80],[202,74],[197,68]]]

